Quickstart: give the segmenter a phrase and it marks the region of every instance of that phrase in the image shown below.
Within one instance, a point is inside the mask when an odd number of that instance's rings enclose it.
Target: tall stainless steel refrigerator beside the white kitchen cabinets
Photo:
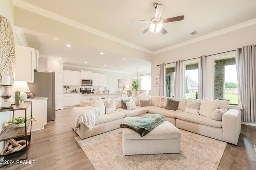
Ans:
[[[55,119],[55,73],[34,72],[34,83],[28,83],[28,87],[34,97],[47,97],[47,121]]]

